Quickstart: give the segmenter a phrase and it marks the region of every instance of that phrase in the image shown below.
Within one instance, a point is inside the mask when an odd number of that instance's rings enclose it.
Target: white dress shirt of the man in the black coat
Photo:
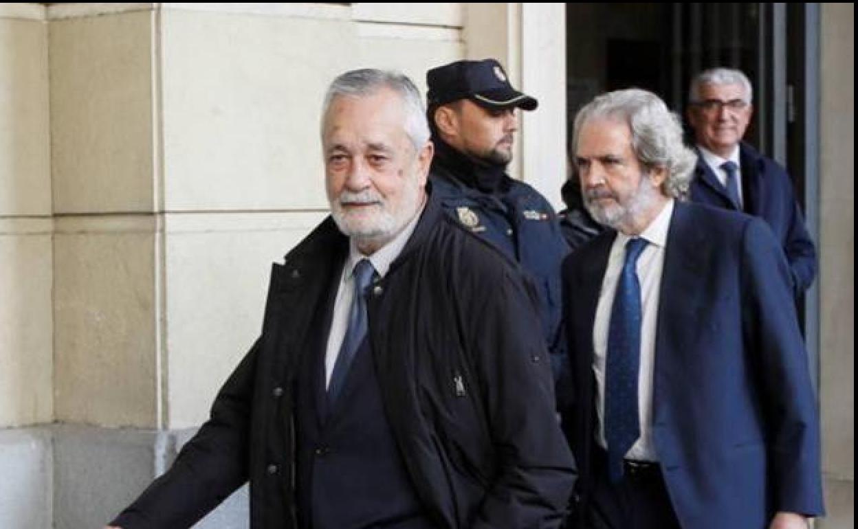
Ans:
[[[330,384],[330,376],[334,373],[334,364],[336,357],[340,354],[342,340],[346,338],[346,329],[348,327],[348,311],[352,306],[354,298],[354,265],[358,264],[361,259],[369,259],[372,262],[372,268],[375,268],[378,277],[383,278],[390,268],[390,263],[393,262],[402,249],[405,248],[405,243],[411,238],[414,233],[414,228],[417,227],[417,221],[420,220],[420,212],[414,215],[414,219],[408,222],[408,225],[400,231],[390,243],[384,244],[376,250],[372,255],[363,255],[353,241],[348,243],[348,259],[345,266],[342,267],[342,278],[340,286],[336,291],[336,300],[334,302],[334,317],[330,322],[330,334],[328,334],[328,348],[325,351],[324,357],[324,374],[325,388]]]

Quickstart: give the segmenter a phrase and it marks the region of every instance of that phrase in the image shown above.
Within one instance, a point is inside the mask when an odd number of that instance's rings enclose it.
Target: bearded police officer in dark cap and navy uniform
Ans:
[[[447,213],[529,273],[557,378],[565,362],[559,339],[560,262],[568,248],[545,197],[505,172],[518,129],[516,111],[533,111],[538,102],[513,88],[494,59],[430,69],[426,85],[435,144],[432,190]]]

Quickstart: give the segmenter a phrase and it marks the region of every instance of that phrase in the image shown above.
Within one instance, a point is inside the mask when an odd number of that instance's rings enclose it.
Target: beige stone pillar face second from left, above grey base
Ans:
[[[49,29],[56,417],[156,428],[154,12],[65,9]]]

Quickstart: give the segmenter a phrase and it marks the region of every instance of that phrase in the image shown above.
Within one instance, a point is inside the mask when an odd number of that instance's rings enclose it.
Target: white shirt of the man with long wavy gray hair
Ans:
[[[641,351],[640,371],[637,376],[637,403],[641,436],[626,458],[631,460],[657,461],[656,447],[652,440],[652,385],[653,368],[656,364],[656,321],[658,319],[658,292],[662,285],[664,268],[664,244],[668,240],[668,226],[674,212],[674,200],[669,200],[639,237],[648,244],[637,259],[637,279],[641,286]],[[617,292],[619,274],[625,261],[625,243],[631,237],[617,233],[607,259],[605,278],[601,283],[599,304],[596,305],[593,326],[593,372],[596,387],[596,413],[599,431],[596,440],[607,449],[605,441],[605,361],[607,358],[607,334],[611,322],[613,296]]]

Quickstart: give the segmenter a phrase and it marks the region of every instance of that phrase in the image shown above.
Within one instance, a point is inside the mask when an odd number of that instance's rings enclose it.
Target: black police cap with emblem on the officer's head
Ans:
[[[459,99],[470,99],[486,108],[516,106],[525,111],[536,109],[539,102],[512,87],[500,63],[494,59],[456,61],[426,72],[429,106],[445,105]]]

